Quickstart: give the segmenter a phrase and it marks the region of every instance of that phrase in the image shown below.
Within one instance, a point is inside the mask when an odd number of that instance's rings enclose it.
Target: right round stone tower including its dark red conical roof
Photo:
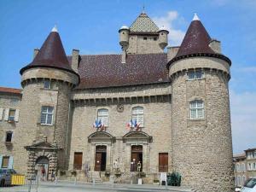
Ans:
[[[231,61],[195,15],[168,62],[172,83],[173,170],[201,192],[234,191],[230,126]]]

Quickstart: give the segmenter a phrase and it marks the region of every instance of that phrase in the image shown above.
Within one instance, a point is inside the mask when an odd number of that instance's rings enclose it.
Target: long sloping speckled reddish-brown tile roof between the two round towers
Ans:
[[[71,62],[71,56],[67,57]],[[166,54],[81,55],[78,89],[169,82]]]

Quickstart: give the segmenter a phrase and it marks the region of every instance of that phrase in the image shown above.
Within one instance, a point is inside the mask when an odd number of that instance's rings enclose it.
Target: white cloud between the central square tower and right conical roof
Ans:
[[[154,17],[153,20],[157,26],[165,26],[166,29],[169,31],[169,44],[173,45],[180,45],[183,41],[185,32],[179,29],[175,29],[173,27],[173,22],[177,20],[181,20],[182,18],[179,17],[177,11],[169,11],[165,16]]]

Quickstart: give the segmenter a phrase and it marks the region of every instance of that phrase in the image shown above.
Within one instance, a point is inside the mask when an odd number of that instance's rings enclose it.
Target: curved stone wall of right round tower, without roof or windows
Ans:
[[[199,67],[211,63],[212,59],[196,61]],[[191,59],[177,61],[172,66],[195,69]],[[171,67],[173,169],[181,173],[184,186],[203,192],[231,192],[234,173],[229,76],[207,68],[203,79],[190,81],[186,70],[175,74],[172,71]],[[195,99],[204,102],[204,119],[189,118],[189,102]]]

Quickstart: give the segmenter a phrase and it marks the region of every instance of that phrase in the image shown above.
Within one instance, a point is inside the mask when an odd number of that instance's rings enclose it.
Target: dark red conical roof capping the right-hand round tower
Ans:
[[[177,55],[169,61],[167,68],[170,67],[173,61],[177,61],[183,58],[192,56],[209,56],[221,58],[231,64],[231,61],[225,55],[214,52],[209,44],[212,38],[209,36],[206,28],[202,25],[201,20],[195,14],[194,19],[190,23],[189,29],[183,38],[183,42],[180,45]]]

